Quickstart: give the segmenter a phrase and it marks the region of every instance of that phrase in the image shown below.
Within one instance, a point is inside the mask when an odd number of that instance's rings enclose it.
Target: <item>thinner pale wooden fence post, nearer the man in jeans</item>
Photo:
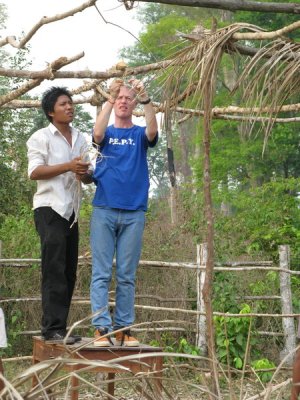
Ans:
[[[207,243],[197,244],[197,335],[196,346],[201,350],[202,355],[207,355],[206,343],[206,316],[205,304],[203,300],[202,290],[205,280],[205,267],[207,263]],[[203,314],[204,313],[204,314]]]

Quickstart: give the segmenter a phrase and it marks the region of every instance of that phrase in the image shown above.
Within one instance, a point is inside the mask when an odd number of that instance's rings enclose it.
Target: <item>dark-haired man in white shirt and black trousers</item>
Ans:
[[[89,176],[90,162],[86,140],[70,125],[74,105],[68,90],[48,89],[42,108],[50,124],[27,141],[28,176],[37,181],[33,209],[41,240],[41,331],[47,342],[61,343],[76,281],[81,181]],[[73,336],[67,340],[74,342]]]

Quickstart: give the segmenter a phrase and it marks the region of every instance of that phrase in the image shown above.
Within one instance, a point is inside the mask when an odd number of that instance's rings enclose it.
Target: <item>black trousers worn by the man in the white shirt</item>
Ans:
[[[34,210],[34,222],[41,240],[42,327],[43,335],[65,332],[76,282],[78,262],[78,223],[70,228],[51,207]]]

